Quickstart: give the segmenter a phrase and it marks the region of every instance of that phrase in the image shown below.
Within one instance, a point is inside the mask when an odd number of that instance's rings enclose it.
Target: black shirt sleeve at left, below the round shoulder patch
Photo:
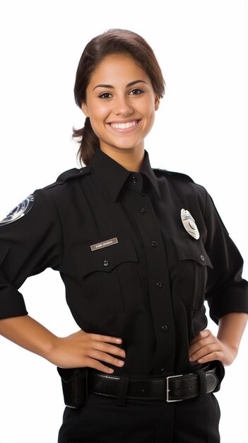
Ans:
[[[16,221],[0,226],[0,318],[26,315],[18,291],[31,275],[62,260],[63,236],[49,190],[33,193],[31,209]]]

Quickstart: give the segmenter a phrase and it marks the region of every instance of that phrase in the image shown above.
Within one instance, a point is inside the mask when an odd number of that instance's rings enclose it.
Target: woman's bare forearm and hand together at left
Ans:
[[[61,338],[30,316],[0,320],[0,334],[64,368],[91,367],[112,374],[114,369],[108,364],[122,367],[122,358],[126,356],[125,351],[119,347],[122,338],[86,333],[81,329]]]

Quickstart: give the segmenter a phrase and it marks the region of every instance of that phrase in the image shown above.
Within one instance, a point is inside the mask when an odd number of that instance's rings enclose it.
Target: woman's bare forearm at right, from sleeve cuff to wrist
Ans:
[[[219,320],[218,340],[238,350],[247,324],[247,313],[228,313]]]

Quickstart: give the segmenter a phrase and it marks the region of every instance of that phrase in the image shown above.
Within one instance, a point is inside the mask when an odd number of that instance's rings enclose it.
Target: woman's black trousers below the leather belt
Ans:
[[[66,408],[59,443],[219,443],[220,408],[213,393],[178,403],[90,393],[83,408]]]

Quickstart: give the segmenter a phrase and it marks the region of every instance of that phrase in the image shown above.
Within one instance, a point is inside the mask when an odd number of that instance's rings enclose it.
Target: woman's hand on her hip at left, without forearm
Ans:
[[[108,367],[107,364],[124,366],[123,360],[119,357],[124,358],[125,351],[116,346],[121,343],[121,338],[78,330],[68,337],[54,338],[54,345],[46,358],[62,368],[90,367],[112,374],[114,369]]]

